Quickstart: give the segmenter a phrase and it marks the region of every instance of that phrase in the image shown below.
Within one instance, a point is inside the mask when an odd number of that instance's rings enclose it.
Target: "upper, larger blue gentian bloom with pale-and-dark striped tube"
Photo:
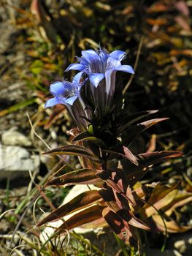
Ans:
[[[123,71],[134,74],[134,69],[129,65],[122,65],[126,56],[123,50],[114,50],[107,53],[105,50],[82,50],[82,56],[77,58],[79,63],[71,64],[66,69],[78,70],[88,76],[91,83],[91,97],[95,110],[99,116],[105,116],[114,107],[116,72]],[[104,79],[105,78],[105,79]]]

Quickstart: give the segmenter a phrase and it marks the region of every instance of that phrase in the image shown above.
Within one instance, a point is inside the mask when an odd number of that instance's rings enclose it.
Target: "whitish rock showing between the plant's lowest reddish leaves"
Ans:
[[[93,185],[89,185],[91,190],[99,190],[98,187],[95,187]],[[72,187],[72,189],[69,191],[69,194],[66,195],[66,197],[64,198],[64,202],[61,205],[64,205],[65,203],[68,203],[70,200],[72,200],[74,197],[77,197],[77,195],[80,195],[82,192],[88,191],[89,188],[87,185],[75,185],[74,187]],[[83,208],[84,210],[85,208]],[[82,211],[82,209],[80,210]],[[77,212],[80,211],[75,211],[75,213],[73,214],[69,214],[66,217],[64,217],[64,220],[69,219],[70,217],[72,217],[74,214],[77,214]],[[43,243],[45,243],[45,241],[47,241],[48,238],[50,238],[51,235],[53,235],[53,233],[55,232],[55,230],[57,229],[57,227],[61,226],[64,222],[59,219],[56,222],[50,222],[50,227],[45,227],[45,229],[42,231],[42,233],[40,234],[40,239]],[[47,225],[47,224],[46,224]],[[97,229],[93,229],[93,228],[81,228],[81,227],[75,227],[74,229],[75,233],[89,233],[89,232],[99,232],[99,230],[101,230],[101,227],[97,228]]]

